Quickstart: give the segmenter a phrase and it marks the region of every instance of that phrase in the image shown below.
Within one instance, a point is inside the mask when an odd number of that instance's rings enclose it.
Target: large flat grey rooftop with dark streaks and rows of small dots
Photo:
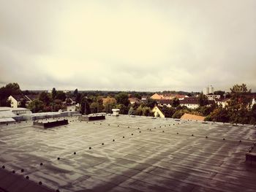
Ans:
[[[256,191],[256,166],[245,161],[253,126],[67,119],[50,129],[0,126],[0,191]]]

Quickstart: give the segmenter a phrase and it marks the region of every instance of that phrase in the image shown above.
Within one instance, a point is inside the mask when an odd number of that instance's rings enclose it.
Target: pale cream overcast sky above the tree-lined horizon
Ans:
[[[0,85],[256,91],[256,1],[0,0]]]

